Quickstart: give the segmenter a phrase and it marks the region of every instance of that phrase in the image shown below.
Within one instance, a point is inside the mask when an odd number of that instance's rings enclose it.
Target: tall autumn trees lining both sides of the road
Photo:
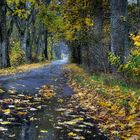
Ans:
[[[54,44],[64,41],[71,62],[115,72],[131,61],[134,37],[139,42],[139,14],[139,0],[1,0],[0,68],[54,59]]]

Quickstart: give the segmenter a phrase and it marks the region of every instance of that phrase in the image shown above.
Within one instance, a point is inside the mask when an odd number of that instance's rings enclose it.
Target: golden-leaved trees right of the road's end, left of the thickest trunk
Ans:
[[[72,61],[83,64],[89,71],[107,71],[109,47],[104,45],[103,37],[108,1],[69,0],[63,4]]]

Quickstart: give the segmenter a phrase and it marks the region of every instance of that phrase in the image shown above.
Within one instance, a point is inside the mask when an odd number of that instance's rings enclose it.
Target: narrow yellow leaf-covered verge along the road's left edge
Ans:
[[[3,76],[3,75],[15,74],[15,73],[22,73],[22,72],[30,71],[32,69],[36,69],[36,68],[46,66],[48,64],[50,64],[50,62],[45,61],[45,62],[41,62],[41,63],[24,64],[24,65],[17,66],[17,67],[0,69],[0,75]]]

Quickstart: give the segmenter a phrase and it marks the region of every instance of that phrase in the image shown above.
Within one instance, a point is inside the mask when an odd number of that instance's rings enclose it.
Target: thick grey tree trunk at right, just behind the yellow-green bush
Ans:
[[[111,0],[111,51],[120,57],[128,54],[127,0]]]

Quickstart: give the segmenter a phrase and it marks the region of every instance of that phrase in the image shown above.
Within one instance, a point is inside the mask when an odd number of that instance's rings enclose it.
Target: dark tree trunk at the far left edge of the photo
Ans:
[[[0,1],[0,68],[10,66],[9,39],[6,28],[6,1]]]

